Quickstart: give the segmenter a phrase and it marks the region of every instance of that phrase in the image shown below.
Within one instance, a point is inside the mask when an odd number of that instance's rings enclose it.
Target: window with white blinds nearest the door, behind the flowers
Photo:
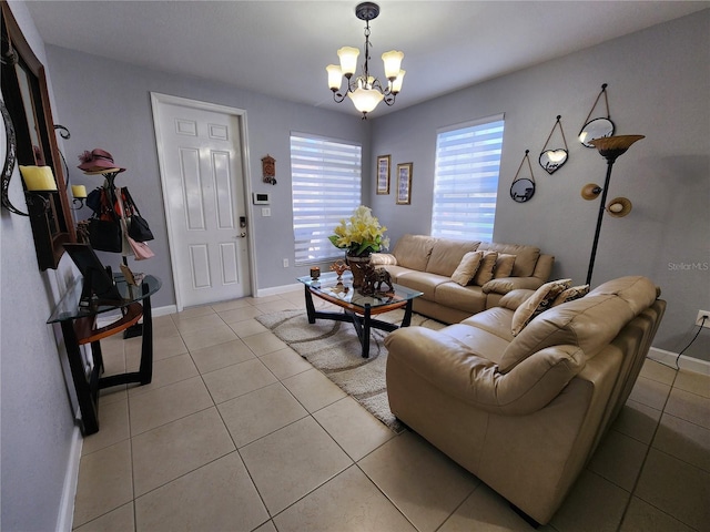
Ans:
[[[362,146],[291,135],[295,264],[342,258],[328,236],[361,205]]]

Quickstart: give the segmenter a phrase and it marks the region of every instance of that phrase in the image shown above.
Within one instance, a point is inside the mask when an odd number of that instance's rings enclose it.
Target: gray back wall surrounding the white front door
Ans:
[[[363,123],[353,114],[298,105],[209,80],[156,72],[51,45],[47,47],[47,53],[57,92],[54,117],[71,131],[71,139],[64,141],[71,183],[85,184],[91,190],[103,181],[101,176],[87,176],[77,168],[77,157],[84,150],[108,150],[114,161],[126,168],[116,178],[116,184],[131,190],[155,235],[155,241],[150,243],[155,258],[135,267],[131,264],[131,267],[138,272],[150,272],[163,280],[163,288],[154,298],[156,307],[173,305],[175,296],[151,92],[246,111],[251,187],[253,192],[270,192],[272,195],[272,216],[261,217],[261,208],[257,208],[251,221],[260,289],[293,284],[295,277],[303,275],[303,268],[293,266],[290,133],[297,131],[359,142],[364,161],[369,160],[369,122]],[[275,186],[262,182],[261,160],[266,154],[276,160],[278,183]],[[368,188],[364,190],[364,197],[368,193]],[[84,219],[90,215],[90,209],[84,207],[77,216]],[[116,254],[101,254],[101,258],[105,264],[115,266],[120,260]],[[284,258],[288,258],[291,267],[283,267]]]

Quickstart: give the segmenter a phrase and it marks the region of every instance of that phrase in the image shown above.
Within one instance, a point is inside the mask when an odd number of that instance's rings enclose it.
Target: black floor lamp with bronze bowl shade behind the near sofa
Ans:
[[[597,244],[599,244],[599,232],[601,231],[601,221],[604,218],[604,212],[608,211],[612,216],[626,216],[631,212],[631,202],[626,197],[615,198],[609,207],[606,207],[607,192],[609,191],[609,181],[611,180],[611,167],[617,157],[623,153],[636,141],[640,141],[645,135],[618,135],[618,136],[605,136],[601,139],[595,139],[589,141],[607,160],[607,178],[604,183],[604,188],[599,185],[589,184],[581,191],[581,196],[585,200],[594,200],[601,193],[601,203],[599,205],[599,216],[597,217],[597,231],[595,232],[595,243],[591,246],[591,256],[589,257],[589,269],[587,270],[587,284],[591,283],[591,273],[595,269],[595,257],[597,255]]]

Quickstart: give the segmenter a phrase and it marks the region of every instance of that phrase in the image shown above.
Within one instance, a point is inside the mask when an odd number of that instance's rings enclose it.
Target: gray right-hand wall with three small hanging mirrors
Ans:
[[[616,134],[646,139],[613,166],[608,198],[626,196],[633,211],[625,218],[605,215],[592,286],[623,275],[653,279],[668,300],[653,346],[679,352],[697,330],[698,310],[710,310],[709,30],[704,10],[376,119],[373,157],[392,154],[393,168],[413,162],[414,172],[412,205],[395,205],[394,192],[373,194],[375,214],[393,242],[427,234],[437,127],[505,113],[494,239],[537,245],[556,256],[554,277],[582,284],[599,200],[582,200],[580,190],[604,185],[607,165],[577,133],[608,83]],[[569,158],[549,175],[537,157],[558,114]],[[592,116],[605,114],[601,104]],[[548,147],[562,147],[559,131]],[[509,187],[525,150],[537,190],[529,203],[517,204]],[[371,166],[374,172],[374,161]],[[686,355],[710,360],[710,330]]]

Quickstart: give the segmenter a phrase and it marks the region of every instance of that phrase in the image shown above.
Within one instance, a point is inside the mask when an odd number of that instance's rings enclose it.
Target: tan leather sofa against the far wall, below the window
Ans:
[[[484,250],[476,276],[467,286],[452,275],[468,252]],[[534,246],[462,242],[424,235],[405,235],[392,254],[373,254],[398,285],[424,293],[414,300],[414,311],[455,324],[494,307],[516,288],[536,289],[550,276],[555,257]]]

